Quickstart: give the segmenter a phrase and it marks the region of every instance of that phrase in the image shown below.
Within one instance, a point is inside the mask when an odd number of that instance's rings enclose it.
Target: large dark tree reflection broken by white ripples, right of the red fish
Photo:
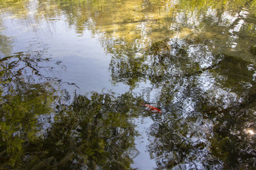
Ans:
[[[184,46],[197,48],[200,55]],[[143,60],[113,57],[110,70],[113,81],[132,86],[150,80],[151,90],[161,89],[154,98],[165,114],[152,117],[148,136],[157,166],[255,166],[254,130],[247,132],[255,129],[252,62],[211,53],[204,43],[189,40],[159,41],[149,49]]]

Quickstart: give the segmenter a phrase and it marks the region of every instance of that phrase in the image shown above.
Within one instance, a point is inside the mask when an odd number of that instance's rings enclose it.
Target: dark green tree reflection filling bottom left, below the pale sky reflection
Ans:
[[[44,95],[35,98],[32,92],[27,93],[33,96],[26,96],[30,97],[29,101],[24,99],[19,103],[13,100],[13,103],[26,108],[17,108],[21,111],[14,110],[16,115],[8,115],[12,121],[6,118],[6,123],[1,124],[1,139],[4,139],[1,148],[7,148],[1,152],[2,167],[129,169],[132,152],[136,151],[136,132],[129,122],[129,116],[136,111],[130,105],[135,102],[131,96],[125,94],[115,98],[97,93],[91,99],[75,96],[70,106],[58,105],[58,114],[51,128],[46,129],[43,136],[36,136],[38,128],[43,126],[38,126],[35,113],[49,113],[50,107],[42,103]],[[12,103],[6,104],[8,107],[2,109],[2,113],[15,108]]]

